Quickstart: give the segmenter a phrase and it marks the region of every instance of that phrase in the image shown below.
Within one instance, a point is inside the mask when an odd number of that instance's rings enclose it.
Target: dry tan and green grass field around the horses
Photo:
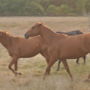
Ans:
[[[0,30],[24,37],[24,33],[36,22],[44,22],[54,31],[80,29],[90,32],[87,17],[0,17]],[[10,60],[7,50],[0,45],[0,90],[90,90],[90,82],[84,82],[90,73],[89,55],[85,65],[82,58],[79,65],[75,60],[68,60],[74,81],[71,81],[63,65],[60,71],[56,71],[57,63],[52,67],[50,76],[43,80],[47,65],[41,55],[20,59],[19,71],[23,75],[15,77],[8,69]]]

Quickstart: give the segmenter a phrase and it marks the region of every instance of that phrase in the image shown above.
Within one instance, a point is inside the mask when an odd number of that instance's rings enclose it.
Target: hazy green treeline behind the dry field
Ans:
[[[79,16],[90,0],[0,0],[0,16]]]

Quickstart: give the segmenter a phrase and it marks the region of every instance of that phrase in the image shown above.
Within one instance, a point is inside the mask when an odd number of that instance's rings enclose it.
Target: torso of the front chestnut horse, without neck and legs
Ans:
[[[53,38],[53,41],[50,42],[52,46],[48,46],[48,53],[54,53],[54,55],[60,59],[75,59],[89,53],[86,47],[86,41],[81,35],[74,37],[65,36],[62,39],[58,38]],[[58,44],[54,41],[58,42]]]

